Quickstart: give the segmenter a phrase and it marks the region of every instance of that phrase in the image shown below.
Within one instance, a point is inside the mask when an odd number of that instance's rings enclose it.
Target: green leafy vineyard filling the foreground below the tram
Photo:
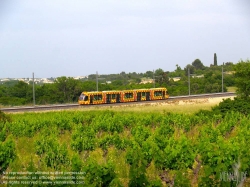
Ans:
[[[2,181],[6,172],[49,171],[82,172],[85,186],[250,184],[250,116],[238,112],[93,110],[0,117]]]

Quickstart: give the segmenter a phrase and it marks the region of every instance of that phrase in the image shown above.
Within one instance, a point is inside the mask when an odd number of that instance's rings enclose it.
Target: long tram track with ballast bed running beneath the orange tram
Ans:
[[[79,104],[57,104],[57,105],[35,105],[25,107],[9,107],[0,108],[0,111],[6,113],[15,112],[35,112],[35,111],[48,111],[48,110],[67,110],[67,109],[80,109],[80,108],[95,108],[117,105],[135,105],[135,104],[148,104],[148,103],[164,103],[174,100],[187,100],[187,99],[202,99],[202,98],[215,98],[215,97],[232,97],[236,96],[235,92],[224,93],[212,93],[212,94],[197,94],[197,95],[185,95],[185,96],[173,96],[166,100],[153,100],[153,101],[141,101],[141,102],[125,102],[125,103],[112,103],[112,104],[100,104],[100,105],[79,105]]]

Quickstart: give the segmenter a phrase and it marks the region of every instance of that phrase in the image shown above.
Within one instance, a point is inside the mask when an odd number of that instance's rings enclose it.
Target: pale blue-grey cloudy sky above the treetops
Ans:
[[[249,0],[0,0],[0,78],[250,59]]]

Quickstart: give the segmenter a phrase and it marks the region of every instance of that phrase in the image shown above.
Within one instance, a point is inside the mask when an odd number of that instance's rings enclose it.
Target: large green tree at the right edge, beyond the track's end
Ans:
[[[250,96],[250,60],[240,61],[235,65],[235,84],[237,95],[244,99]]]

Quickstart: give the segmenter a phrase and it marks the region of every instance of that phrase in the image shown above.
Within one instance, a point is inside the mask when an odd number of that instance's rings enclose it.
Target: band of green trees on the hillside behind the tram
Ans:
[[[246,63],[249,63],[247,61]],[[235,64],[228,62],[223,65],[223,91],[227,87],[235,86],[235,75],[229,74],[235,70]],[[188,74],[189,73],[189,74]],[[210,65],[206,67],[199,59],[195,59],[183,69],[177,64],[173,72],[159,68],[145,73],[125,73],[98,76],[98,90],[124,90],[152,87],[166,87],[171,96],[191,94],[215,93],[222,91],[222,66]],[[178,78],[179,81],[175,81]],[[140,84],[145,80],[155,81]],[[58,77],[52,84],[35,85],[35,102],[37,105],[77,102],[82,91],[96,91],[96,74],[88,79],[75,80],[73,77]],[[22,81],[9,81],[0,85],[0,105],[16,106],[33,103],[33,87]]]

